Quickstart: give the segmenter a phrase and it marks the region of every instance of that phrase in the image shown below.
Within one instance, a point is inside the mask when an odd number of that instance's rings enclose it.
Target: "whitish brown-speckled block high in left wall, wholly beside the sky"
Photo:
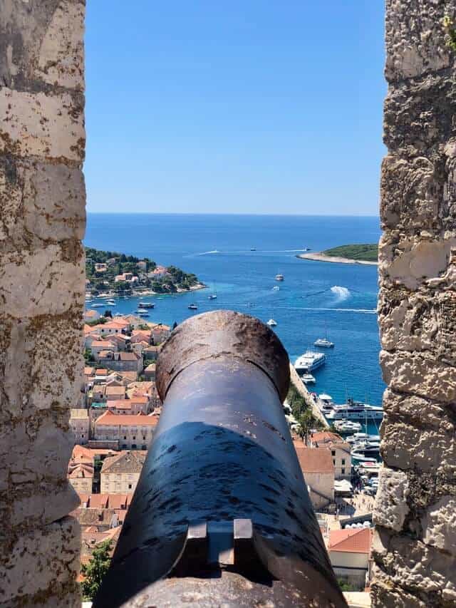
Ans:
[[[83,96],[0,88],[0,153],[84,160]]]

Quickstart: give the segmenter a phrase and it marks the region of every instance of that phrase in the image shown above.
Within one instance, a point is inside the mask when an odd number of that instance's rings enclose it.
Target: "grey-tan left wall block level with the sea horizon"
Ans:
[[[85,203],[80,169],[0,157],[0,247],[4,251],[42,247],[43,240],[82,239]]]

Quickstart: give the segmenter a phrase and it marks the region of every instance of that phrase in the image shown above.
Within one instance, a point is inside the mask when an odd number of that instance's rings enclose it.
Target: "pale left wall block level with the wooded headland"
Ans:
[[[2,312],[14,319],[65,314],[71,306],[82,314],[85,289],[85,258],[78,241],[0,259]]]

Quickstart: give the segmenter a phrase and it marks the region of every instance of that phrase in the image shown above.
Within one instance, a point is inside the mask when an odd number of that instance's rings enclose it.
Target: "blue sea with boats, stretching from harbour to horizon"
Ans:
[[[214,309],[273,318],[291,361],[327,334],[336,346],[325,351],[326,365],[314,372],[316,385],[309,388],[336,403],[352,396],[380,405],[385,385],[378,365],[377,267],[296,257],[305,247],[318,252],[379,237],[378,217],[88,214],[85,243],[174,264],[209,286],[147,297],[155,302],[148,320],[172,325]],[[283,283],[274,281],[277,273],[284,274]],[[217,299],[209,301],[212,292]],[[118,300],[113,311],[132,312],[138,302]],[[187,309],[192,302],[196,312]]]

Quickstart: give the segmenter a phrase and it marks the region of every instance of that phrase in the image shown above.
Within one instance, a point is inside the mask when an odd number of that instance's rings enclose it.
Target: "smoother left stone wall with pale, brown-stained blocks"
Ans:
[[[83,0],[0,0],[0,605],[77,606]]]

